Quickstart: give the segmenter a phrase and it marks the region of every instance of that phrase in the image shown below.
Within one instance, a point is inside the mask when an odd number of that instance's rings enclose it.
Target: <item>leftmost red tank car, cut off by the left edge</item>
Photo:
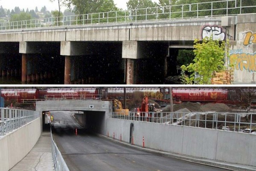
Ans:
[[[1,89],[1,97],[5,100],[38,99],[38,89]]]

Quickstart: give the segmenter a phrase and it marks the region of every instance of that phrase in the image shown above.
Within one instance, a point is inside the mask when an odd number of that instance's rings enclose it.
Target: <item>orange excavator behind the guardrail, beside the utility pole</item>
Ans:
[[[154,117],[154,104],[148,103],[147,95],[143,98],[140,107],[135,109],[135,117],[140,121],[152,121],[152,117]]]

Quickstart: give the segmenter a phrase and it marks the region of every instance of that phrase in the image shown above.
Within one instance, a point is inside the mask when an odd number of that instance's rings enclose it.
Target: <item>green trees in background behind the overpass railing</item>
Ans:
[[[38,8],[35,7],[35,10],[29,10],[28,8],[26,11],[24,9],[20,9],[19,7],[15,7],[14,9],[5,9],[3,6],[0,6],[0,22],[4,21],[20,21],[20,20],[30,20],[30,19],[38,19],[38,18],[47,18],[47,17],[62,17],[68,15],[81,15],[81,14],[91,14],[91,13],[99,13],[99,12],[108,12],[108,11],[119,11],[122,10],[121,8],[117,8],[116,4],[114,4],[113,0],[49,0],[52,3],[58,3],[58,10],[55,11],[47,11],[46,6],[41,8],[41,11],[38,11]],[[201,4],[199,6],[193,5],[192,3],[205,3],[205,2],[213,2],[219,0],[159,0],[158,3],[152,2],[151,0],[129,0],[126,3],[127,9],[141,9],[141,8],[148,8],[148,13],[159,13],[159,18],[166,18],[169,14],[163,14],[163,11],[170,11],[169,6],[172,7],[173,12],[179,12],[180,6],[183,6],[183,11],[187,11],[183,17],[191,17],[198,15],[195,11],[197,8],[201,10],[210,9],[211,4]],[[240,4],[242,2],[242,4]],[[192,5],[185,5],[185,4],[192,4]],[[256,0],[236,0],[236,6],[256,6]],[[166,6],[165,8],[161,8],[160,11],[156,10],[154,7]],[[226,2],[219,2],[213,3],[212,8],[216,9],[213,15],[221,15],[226,14],[225,10],[221,10],[221,8],[226,8]],[[231,1],[228,3],[229,7],[235,7],[235,1]],[[61,7],[66,7],[68,9],[61,11]],[[191,10],[191,11],[189,11]],[[236,14],[238,13],[239,9],[232,9],[229,14]],[[193,12],[194,11],[194,12]],[[256,11],[256,8],[242,8],[242,13],[253,13]],[[38,13],[39,12],[39,13]],[[210,11],[201,11],[199,16],[211,15],[208,14]],[[131,11],[131,13],[135,13]],[[40,15],[39,15],[40,14]],[[137,20],[143,20],[145,15],[145,10],[137,10],[137,15],[141,15],[137,18]],[[134,14],[131,14],[134,15]],[[173,17],[180,17],[179,13],[174,14]],[[149,16],[148,20],[154,20],[155,15]]]

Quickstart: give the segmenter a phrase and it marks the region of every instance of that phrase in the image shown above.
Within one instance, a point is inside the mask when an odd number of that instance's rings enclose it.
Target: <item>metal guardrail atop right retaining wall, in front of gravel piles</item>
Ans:
[[[129,115],[120,115],[113,112],[111,118],[256,134],[256,113],[129,112]]]

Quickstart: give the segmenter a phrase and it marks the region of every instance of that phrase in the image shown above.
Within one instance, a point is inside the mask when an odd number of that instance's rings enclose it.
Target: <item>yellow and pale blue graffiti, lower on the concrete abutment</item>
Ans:
[[[233,53],[235,52],[235,53]],[[235,69],[240,71],[256,71],[256,52],[244,53],[242,50],[230,50],[230,63],[235,64]]]

